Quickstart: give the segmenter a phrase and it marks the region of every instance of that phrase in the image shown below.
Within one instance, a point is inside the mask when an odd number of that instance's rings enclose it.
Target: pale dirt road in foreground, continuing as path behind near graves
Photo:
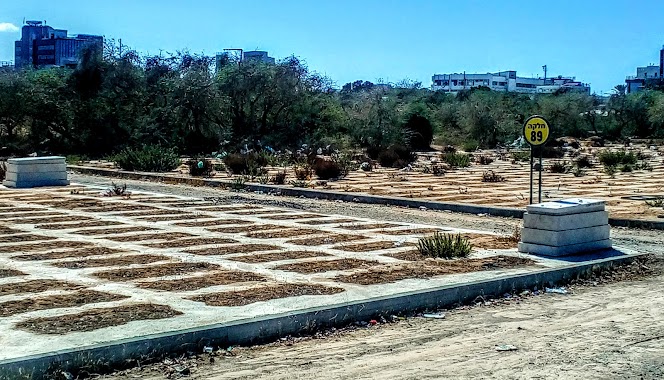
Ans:
[[[73,182],[109,179],[74,175]],[[229,193],[127,181],[135,190],[285,206],[384,221],[453,225],[510,234],[520,220],[344,202]],[[662,231],[612,229],[615,245],[662,257]],[[661,260],[661,259],[660,259]],[[311,339],[286,339],[169,361],[108,379],[661,379],[664,378],[664,271],[573,286],[570,294],[522,295]],[[652,268],[651,268],[652,269]],[[515,351],[499,352],[498,345]],[[180,373],[178,373],[180,371]]]

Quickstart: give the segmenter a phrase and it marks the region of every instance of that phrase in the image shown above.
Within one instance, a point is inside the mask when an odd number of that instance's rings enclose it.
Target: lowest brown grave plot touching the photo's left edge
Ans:
[[[26,298],[0,303],[0,317],[28,313],[31,311],[76,307],[89,303],[112,302],[129,298],[119,294],[82,290],[75,293],[60,294],[50,297]]]

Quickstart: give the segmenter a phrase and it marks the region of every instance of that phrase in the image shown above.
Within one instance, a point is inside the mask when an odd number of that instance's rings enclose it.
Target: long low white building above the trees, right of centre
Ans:
[[[516,71],[501,71],[486,74],[435,74],[432,78],[433,91],[459,92],[476,87],[488,87],[493,91],[546,94],[568,88],[590,93],[590,87],[574,78],[525,78],[516,76]]]

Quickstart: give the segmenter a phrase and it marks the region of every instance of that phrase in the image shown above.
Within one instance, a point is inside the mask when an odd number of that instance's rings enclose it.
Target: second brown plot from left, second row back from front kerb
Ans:
[[[211,286],[230,285],[241,282],[264,282],[267,279],[251,272],[212,272],[205,276],[185,277],[177,280],[139,282],[138,287],[153,290],[190,291]]]

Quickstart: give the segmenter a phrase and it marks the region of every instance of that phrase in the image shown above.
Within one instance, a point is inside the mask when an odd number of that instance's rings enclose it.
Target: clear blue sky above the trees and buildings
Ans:
[[[0,60],[23,18],[121,38],[143,53],[228,47],[294,54],[339,86],[434,73],[571,75],[597,93],[658,62],[664,1],[0,0]]]

